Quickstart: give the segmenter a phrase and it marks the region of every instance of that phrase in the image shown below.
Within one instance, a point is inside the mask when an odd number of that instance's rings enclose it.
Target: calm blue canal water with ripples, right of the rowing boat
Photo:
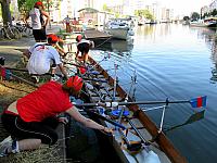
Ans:
[[[215,30],[180,24],[158,24],[137,27],[133,42],[115,41],[107,51],[94,51],[114,76],[114,62],[119,64],[119,84],[129,90],[130,75],[137,71],[135,97],[143,100],[189,100],[207,96],[205,112],[190,104],[170,104],[166,111],[164,130],[175,147],[190,163],[217,160],[217,52]],[[132,96],[132,92],[130,93]],[[199,113],[197,113],[199,112]],[[162,111],[149,116],[159,126]]]

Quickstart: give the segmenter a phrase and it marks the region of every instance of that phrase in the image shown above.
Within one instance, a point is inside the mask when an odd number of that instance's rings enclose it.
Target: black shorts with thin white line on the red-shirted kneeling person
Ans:
[[[40,139],[42,143],[54,145],[58,141],[55,128],[59,121],[55,117],[43,122],[24,122],[18,115],[3,113],[1,116],[4,128],[16,139]]]

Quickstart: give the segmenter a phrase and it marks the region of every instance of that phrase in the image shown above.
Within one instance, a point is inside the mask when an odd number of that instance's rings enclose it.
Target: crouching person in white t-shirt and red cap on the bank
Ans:
[[[38,75],[49,73],[51,63],[53,67],[52,70],[55,70],[55,66],[58,65],[64,77],[67,79],[67,73],[63,67],[60,54],[54,48],[58,41],[58,36],[49,35],[48,43],[37,42],[24,52],[24,55],[29,59],[27,63],[27,70],[35,83],[38,83]],[[51,73],[54,74],[55,72],[51,71]]]

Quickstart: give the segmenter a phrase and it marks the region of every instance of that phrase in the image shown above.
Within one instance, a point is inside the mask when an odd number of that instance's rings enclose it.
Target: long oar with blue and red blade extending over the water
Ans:
[[[193,98],[190,100],[175,100],[175,101],[169,101],[168,99],[165,101],[136,101],[136,102],[98,102],[98,103],[82,103],[82,104],[76,104],[77,106],[117,106],[117,105],[130,105],[130,104],[168,104],[168,103],[190,103],[192,108],[201,108],[201,106],[206,106],[206,96],[203,97],[197,97]]]

